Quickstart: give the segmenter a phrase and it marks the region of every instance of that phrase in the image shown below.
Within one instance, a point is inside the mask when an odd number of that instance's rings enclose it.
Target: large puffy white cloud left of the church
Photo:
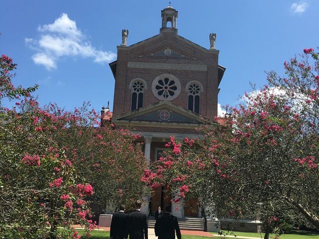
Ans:
[[[41,32],[39,40],[25,38],[24,41],[38,52],[32,56],[34,63],[44,65],[48,70],[57,67],[60,57],[93,58],[96,63],[110,62],[116,58],[115,53],[97,50],[90,42],[84,41],[85,35],[65,13],[52,24],[39,26],[38,31]]]

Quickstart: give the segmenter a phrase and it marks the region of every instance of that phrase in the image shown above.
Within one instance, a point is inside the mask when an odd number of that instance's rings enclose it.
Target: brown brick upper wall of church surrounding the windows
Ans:
[[[152,57],[164,49],[171,49],[188,57]],[[128,62],[152,62],[152,63],[172,63],[172,64],[196,64],[207,65],[207,71],[193,70],[166,70],[166,69],[142,69],[128,68]],[[132,79],[140,77],[147,82],[147,90],[144,94],[144,106],[159,102],[152,92],[152,82],[160,74],[168,73],[176,76],[181,83],[179,96],[171,102],[187,109],[186,84],[191,80],[197,80],[203,85],[203,93],[200,96],[200,114],[208,118],[217,116],[218,100],[218,51],[202,50],[193,43],[189,44],[183,38],[176,36],[173,32],[162,32],[145,43],[131,47],[118,47],[118,60],[116,69],[115,94],[113,116],[128,113],[131,110],[131,90],[129,84]],[[149,131],[141,129],[141,131]],[[152,128],[152,131],[158,131]],[[160,128],[163,132],[176,132],[171,128]],[[180,129],[180,132],[190,133],[189,129]]]

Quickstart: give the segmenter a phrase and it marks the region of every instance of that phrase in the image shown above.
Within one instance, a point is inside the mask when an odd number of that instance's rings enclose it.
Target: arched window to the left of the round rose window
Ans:
[[[132,97],[131,97],[131,111],[143,107],[144,91],[146,89],[146,82],[141,79],[133,79],[130,83]]]

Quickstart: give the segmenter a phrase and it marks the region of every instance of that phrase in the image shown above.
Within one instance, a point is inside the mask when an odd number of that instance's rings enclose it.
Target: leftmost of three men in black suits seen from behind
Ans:
[[[127,239],[127,222],[128,222],[128,214],[124,213],[125,205],[120,206],[120,212],[114,214],[112,216],[111,222],[111,231],[110,237],[111,239]]]

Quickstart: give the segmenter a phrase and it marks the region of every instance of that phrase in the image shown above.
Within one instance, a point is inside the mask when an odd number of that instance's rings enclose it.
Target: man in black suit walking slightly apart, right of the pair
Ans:
[[[155,235],[159,239],[175,239],[175,231],[177,239],[181,239],[177,218],[170,211],[170,206],[167,206],[164,215],[155,224]]]

